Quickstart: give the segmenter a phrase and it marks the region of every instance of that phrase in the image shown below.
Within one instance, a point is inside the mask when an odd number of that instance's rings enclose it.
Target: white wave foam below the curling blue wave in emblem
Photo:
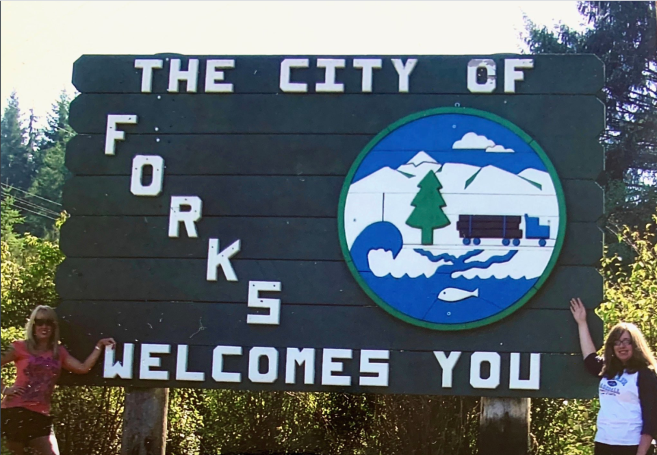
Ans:
[[[452,262],[444,260],[431,262],[413,249],[406,248],[402,248],[396,258],[393,258],[392,251],[387,249],[371,249],[368,253],[368,263],[370,270],[378,278],[385,275],[392,275],[394,278],[402,278],[404,275],[417,278],[424,275],[426,278],[430,278],[441,265],[452,264]]]

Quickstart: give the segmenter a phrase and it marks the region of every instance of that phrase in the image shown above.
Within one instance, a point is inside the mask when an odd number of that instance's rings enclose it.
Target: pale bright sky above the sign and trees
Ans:
[[[0,2],[0,98],[42,118],[83,54],[489,54],[534,23],[582,28],[576,1]]]

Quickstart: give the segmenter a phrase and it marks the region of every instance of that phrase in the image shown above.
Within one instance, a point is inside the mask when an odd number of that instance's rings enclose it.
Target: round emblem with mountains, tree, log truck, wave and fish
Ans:
[[[498,116],[437,108],[378,134],[340,197],[347,265],[392,315],[474,328],[525,304],[556,263],[561,184],[545,152]]]

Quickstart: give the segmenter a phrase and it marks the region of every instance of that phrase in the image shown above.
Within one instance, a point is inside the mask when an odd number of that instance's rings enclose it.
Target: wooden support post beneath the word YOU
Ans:
[[[529,398],[481,397],[480,455],[528,455]]]

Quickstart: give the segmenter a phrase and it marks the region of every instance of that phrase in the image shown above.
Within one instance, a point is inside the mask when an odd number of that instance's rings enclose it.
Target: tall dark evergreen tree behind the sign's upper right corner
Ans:
[[[532,53],[594,53],[605,65],[606,225],[643,228],[657,205],[657,21],[652,1],[581,1],[591,26],[537,27],[527,20]]]

